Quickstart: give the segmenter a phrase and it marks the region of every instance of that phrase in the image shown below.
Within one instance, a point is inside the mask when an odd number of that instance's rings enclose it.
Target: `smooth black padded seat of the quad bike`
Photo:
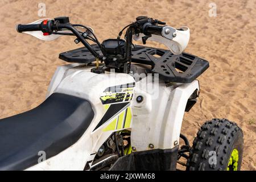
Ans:
[[[79,140],[93,117],[88,101],[53,93],[35,109],[0,119],[0,170],[34,166],[39,151],[47,159],[59,154]]]

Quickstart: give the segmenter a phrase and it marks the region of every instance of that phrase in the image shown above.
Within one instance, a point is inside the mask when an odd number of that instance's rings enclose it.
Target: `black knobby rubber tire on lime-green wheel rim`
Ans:
[[[241,169],[243,152],[243,133],[236,123],[228,119],[212,119],[204,123],[193,140],[187,160],[189,171],[226,170],[232,151],[238,150],[238,170]],[[210,164],[209,158],[216,153],[216,163]],[[211,159],[212,160],[212,159]]]

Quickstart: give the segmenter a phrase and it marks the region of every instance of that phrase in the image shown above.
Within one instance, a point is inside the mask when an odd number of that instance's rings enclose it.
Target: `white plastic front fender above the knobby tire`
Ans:
[[[143,81],[143,79],[141,80]],[[189,84],[166,86],[159,82],[159,97],[152,97],[146,86],[135,88],[134,98],[143,97],[142,102],[133,101],[133,125],[131,144],[136,151],[174,148],[179,144],[181,123],[188,98],[198,89],[197,80]]]

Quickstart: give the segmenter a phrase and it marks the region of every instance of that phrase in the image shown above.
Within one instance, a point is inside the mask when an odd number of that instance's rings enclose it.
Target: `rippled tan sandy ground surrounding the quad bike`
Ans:
[[[209,60],[210,69],[199,78],[199,102],[185,114],[182,133],[192,141],[207,119],[236,121],[245,139],[242,169],[256,169],[256,1],[216,0],[217,16],[210,17],[212,1],[203,0],[1,0],[0,118],[39,105],[57,65],[65,64],[58,59],[59,53],[78,47],[69,37],[43,42],[15,31],[15,24],[39,19],[40,2],[46,3],[48,18],[69,16],[73,23],[93,27],[101,41],[115,38],[138,15],[164,20],[173,27],[191,28],[185,51]]]

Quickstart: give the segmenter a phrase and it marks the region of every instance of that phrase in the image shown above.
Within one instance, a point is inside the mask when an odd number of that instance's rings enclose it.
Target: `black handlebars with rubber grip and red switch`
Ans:
[[[92,46],[90,46],[90,44],[86,41],[86,39],[89,39],[91,37],[88,36],[89,38],[86,38],[84,34],[79,32],[75,28],[75,27],[84,27],[84,28],[87,28],[87,27],[82,26],[80,24],[69,23],[69,18],[66,16],[57,17],[54,19],[45,19],[43,21],[39,20],[38,23],[39,24],[18,24],[18,26],[16,26],[16,30],[20,33],[25,31],[42,31],[44,36],[58,34],[58,31],[69,30],[72,32],[72,34],[67,32],[65,34],[62,32],[61,34],[61,32],[59,32],[59,35],[75,35],[77,37],[76,39],[77,42],[81,42],[82,44],[84,44],[84,46],[92,53],[94,57],[96,57],[96,59],[103,60],[102,57],[108,56],[107,53],[104,53],[105,52],[104,48],[102,48],[102,45],[98,42],[93,32],[92,32],[92,35],[95,38],[94,42],[96,42],[100,47],[101,52],[103,53],[103,56],[100,55],[100,53],[96,52],[92,48]],[[121,55],[119,62],[127,63],[128,61],[131,60],[131,47],[132,47],[132,39],[134,34],[136,35],[141,33],[144,34],[144,36],[142,37],[143,44],[146,44],[146,40],[150,38],[152,35],[160,35],[166,38],[166,36],[163,35],[164,28],[166,28],[166,26],[159,26],[164,24],[166,23],[161,22],[160,20],[157,20],[157,19],[148,18],[147,16],[138,16],[136,18],[136,22],[133,22],[128,26],[126,26],[125,27],[127,28],[126,35],[125,35],[126,49],[125,49],[125,53]],[[125,28],[123,28],[123,30],[125,30]],[[120,39],[120,36],[122,35],[122,31],[119,33],[119,36],[117,38],[118,49],[119,49],[119,39]]]

